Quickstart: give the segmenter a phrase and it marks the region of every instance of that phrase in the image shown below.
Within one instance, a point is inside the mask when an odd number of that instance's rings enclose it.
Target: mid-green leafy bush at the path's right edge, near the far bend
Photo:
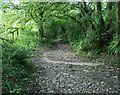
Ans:
[[[77,51],[90,51],[95,49],[96,33],[89,29],[84,35],[81,35],[78,40],[72,41],[72,47]]]

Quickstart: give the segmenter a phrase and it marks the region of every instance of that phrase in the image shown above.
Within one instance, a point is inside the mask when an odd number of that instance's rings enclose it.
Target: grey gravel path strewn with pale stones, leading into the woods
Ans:
[[[96,66],[65,64],[64,62],[94,62],[91,59],[78,57],[66,44],[57,44],[48,50],[36,50],[33,55],[32,61],[37,69],[33,88],[35,93],[118,93],[120,91],[118,68],[100,63]],[[52,61],[46,61],[45,58]]]

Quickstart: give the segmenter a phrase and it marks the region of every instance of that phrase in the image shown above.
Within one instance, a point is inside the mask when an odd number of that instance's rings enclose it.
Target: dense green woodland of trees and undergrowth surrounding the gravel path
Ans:
[[[56,40],[78,54],[120,55],[120,2],[9,2],[0,15],[3,92],[25,90],[34,79],[30,51]]]

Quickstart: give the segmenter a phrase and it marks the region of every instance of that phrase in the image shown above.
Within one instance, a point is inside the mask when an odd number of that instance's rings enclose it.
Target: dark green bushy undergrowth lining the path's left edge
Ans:
[[[33,76],[32,64],[29,64],[28,49],[18,43],[3,43],[2,92],[22,93],[30,85]]]

